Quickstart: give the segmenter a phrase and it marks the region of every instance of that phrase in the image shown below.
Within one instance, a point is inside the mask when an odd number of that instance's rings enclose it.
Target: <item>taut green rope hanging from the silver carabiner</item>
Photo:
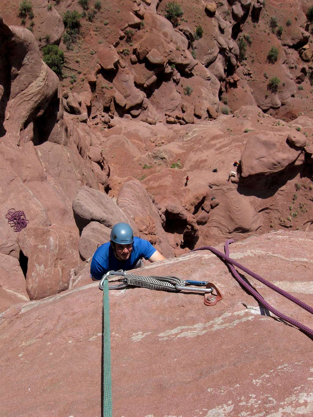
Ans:
[[[109,283],[103,282],[103,417],[112,417]]]

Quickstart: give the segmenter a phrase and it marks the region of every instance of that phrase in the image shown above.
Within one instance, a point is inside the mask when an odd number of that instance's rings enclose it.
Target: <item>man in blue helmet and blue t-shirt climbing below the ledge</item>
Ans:
[[[127,223],[115,224],[110,239],[93,254],[90,266],[93,281],[101,279],[108,271],[141,268],[142,258],[150,262],[166,259],[150,242],[134,236],[133,229]]]

